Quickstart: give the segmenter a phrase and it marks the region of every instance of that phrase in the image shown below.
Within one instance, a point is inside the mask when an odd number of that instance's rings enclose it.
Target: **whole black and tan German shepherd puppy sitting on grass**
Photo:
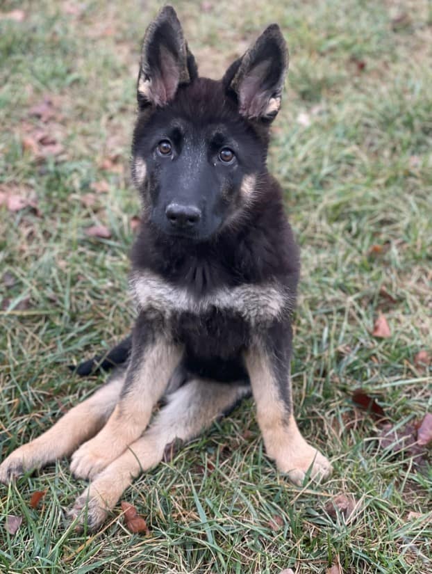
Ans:
[[[97,528],[169,443],[197,436],[249,392],[279,470],[296,484],[329,475],[329,461],[294,420],[299,253],[266,165],[287,67],[276,24],[220,81],[198,76],[173,8],[149,25],[132,145],[142,226],[132,253],[139,314],[131,356],[92,397],[10,454],[1,481],[72,454],[74,475],[91,480],[72,516]]]

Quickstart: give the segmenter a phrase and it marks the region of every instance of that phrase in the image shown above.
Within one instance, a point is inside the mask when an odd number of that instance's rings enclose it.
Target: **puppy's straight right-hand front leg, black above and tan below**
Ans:
[[[301,436],[292,410],[290,383],[291,328],[276,324],[245,353],[257,418],[268,456],[294,484],[326,477],[331,464]]]

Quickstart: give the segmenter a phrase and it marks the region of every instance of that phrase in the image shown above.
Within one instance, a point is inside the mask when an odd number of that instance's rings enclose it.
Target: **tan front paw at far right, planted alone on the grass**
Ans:
[[[328,459],[308,443],[299,449],[287,449],[276,460],[276,465],[297,486],[301,486],[306,477],[319,481],[329,477],[333,471]]]

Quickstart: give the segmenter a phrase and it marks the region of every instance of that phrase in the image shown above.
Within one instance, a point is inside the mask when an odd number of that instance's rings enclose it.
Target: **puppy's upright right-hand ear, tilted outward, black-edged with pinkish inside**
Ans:
[[[288,49],[277,24],[269,26],[247,52],[226,71],[222,80],[238,99],[248,119],[274,119],[288,70]]]

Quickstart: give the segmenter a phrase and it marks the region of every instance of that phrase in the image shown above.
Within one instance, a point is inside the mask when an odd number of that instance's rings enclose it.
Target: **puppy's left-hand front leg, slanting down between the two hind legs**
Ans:
[[[76,477],[96,476],[140,437],[180,358],[180,346],[141,314],[133,332],[122,396],[103,429],[72,456],[71,470]]]

